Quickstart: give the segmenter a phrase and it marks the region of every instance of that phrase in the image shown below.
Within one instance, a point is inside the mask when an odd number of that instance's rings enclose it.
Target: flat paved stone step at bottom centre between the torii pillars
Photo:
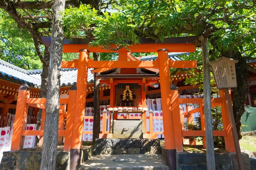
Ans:
[[[79,170],[169,170],[162,155],[93,155]]]

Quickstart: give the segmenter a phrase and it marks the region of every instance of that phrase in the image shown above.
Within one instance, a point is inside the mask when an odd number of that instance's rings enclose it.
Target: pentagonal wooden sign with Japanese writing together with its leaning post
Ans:
[[[224,95],[226,98],[227,111],[230,119],[231,130],[233,133],[233,140],[235,143],[236,157],[239,164],[239,169],[244,170],[244,164],[242,160],[239,140],[236,132],[236,123],[232,108],[232,103],[229,95],[229,88],[236,88],[236,69],[235,63],[238,62],[235,59],[230,59],[227,57],[221,57],[216,61],[210,63],[212,66],[212,72],[215,78],[218,89],[224,89]]]

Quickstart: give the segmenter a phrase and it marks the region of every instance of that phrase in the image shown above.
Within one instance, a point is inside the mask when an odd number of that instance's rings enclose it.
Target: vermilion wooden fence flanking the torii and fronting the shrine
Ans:
[[[175,145],[178,152],[182,152],[182,136],[205,136],[204,130],[204,111],[203,111],[203,98],[192,98],[192,99],[179,99],[178,98],[178,91],[171,91],[173,99],[172,99],[172,109],[173,109],[173,119],[174,123],[176,123],[175,127]],[[17,99],[17,108],[16,108],[16,116],[15,116],[15,123],[14,123],[14,130],[13,130],[13,138],[12,138],[12,147],[11,150],[20,150],[23,146],[24,136],[42,136],[44,135],[44,120],[45,120],[45,104],[46,99],[44,98],[29,98],[30,91],[29,87],[26,85],[21,86],[18,92],[18,99]],[[225,104],[225,96],[224,92],[220,91],[220,98],[212,98],[212,107],[216,107],[221,105],[222,111],[222,119],[223,119],[223,128],[224,130],[214,130],[214,136],[224,136],[226,150],[228,152],[234,152],[235,147],[233,143],[233,137],[230,127],[230,122],[227,115],[227,106]],[[75,98],[76,98],[76,88],[73,86],[70,88],[69,91],[69,98],[68,99],[60,99],[60,104],[67,104],[67,112],[65,112],[64,107],[60,107],[59,113],[59,130],[58,135],[65,137],[64,142],[64,150],[68,151],[71,149],[72,144],[75,142],[77,143],[76,138],[73,136],[73,132],[76,131],[74,129],[74,122],[75,122]],[[175,102],[176,100],[176,102]],[[201,123],[202,123],[202,130],[181,130],[181,123],[180,123],[180,110],[179,104],[199,104],[199,108],[189,111],[190,114],[196,113],[200,111],[201,113]],[[42,122],[41,122],[41,130],[26,130],[26,116],[27,116],[27,109],[28,105],[33,105],[37,108],[42,108]],[[177,105],[177,106],[175,106]],[[178,108],[177,111],[174,108]],[[142,114],[143,115],[143,114]],[[64,117],[67,117],[66,123],[66,130],[63,130],[64,125]],[[93,116],[84,116],[85,119],[93,119]],[[106,129],[106,122],[107,119],[110,119],[110,116],[107,116],[107,113],[103,113],[100,117],[102,119],[102,132],[100,134],[100,138],[111,138],[111,132],[107,131]],[[117,116],[117,119],[143,119],[142,116]],[[150,138],[157,138],[157,134],[164,134],[164,132],[154,132],[153,130],[153,120],[154,119],[163,119],[162,116],[153,116],[153,113],[149,113],[149,116],[146,117],[149,119],[149,132]],[[90,134],[91,131],[83,131],[84,134]],[[40,141],[42,142],[42,140]],[[42,143],[39,143],[42,145]],[[205,144],[205,142],[204,142]]]

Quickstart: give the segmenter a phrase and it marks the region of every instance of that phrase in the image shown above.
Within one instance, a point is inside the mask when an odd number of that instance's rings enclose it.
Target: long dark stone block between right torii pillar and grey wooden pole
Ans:
[[[206,156],[202,153],[177,153],[180,164],[205,164]]]

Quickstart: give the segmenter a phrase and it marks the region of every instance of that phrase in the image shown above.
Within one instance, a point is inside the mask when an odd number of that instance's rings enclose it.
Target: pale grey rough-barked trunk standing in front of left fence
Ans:
[[[61,11],[64,11],[65,0],[54,0],[52,20],[52,41],[50,47],[48,94],[46,119],[44,125],[44,143],[41,159],[41,170],[55,170],[58,145],[58,114],[60,98],[61,60],[63,50],[63,26]]]

